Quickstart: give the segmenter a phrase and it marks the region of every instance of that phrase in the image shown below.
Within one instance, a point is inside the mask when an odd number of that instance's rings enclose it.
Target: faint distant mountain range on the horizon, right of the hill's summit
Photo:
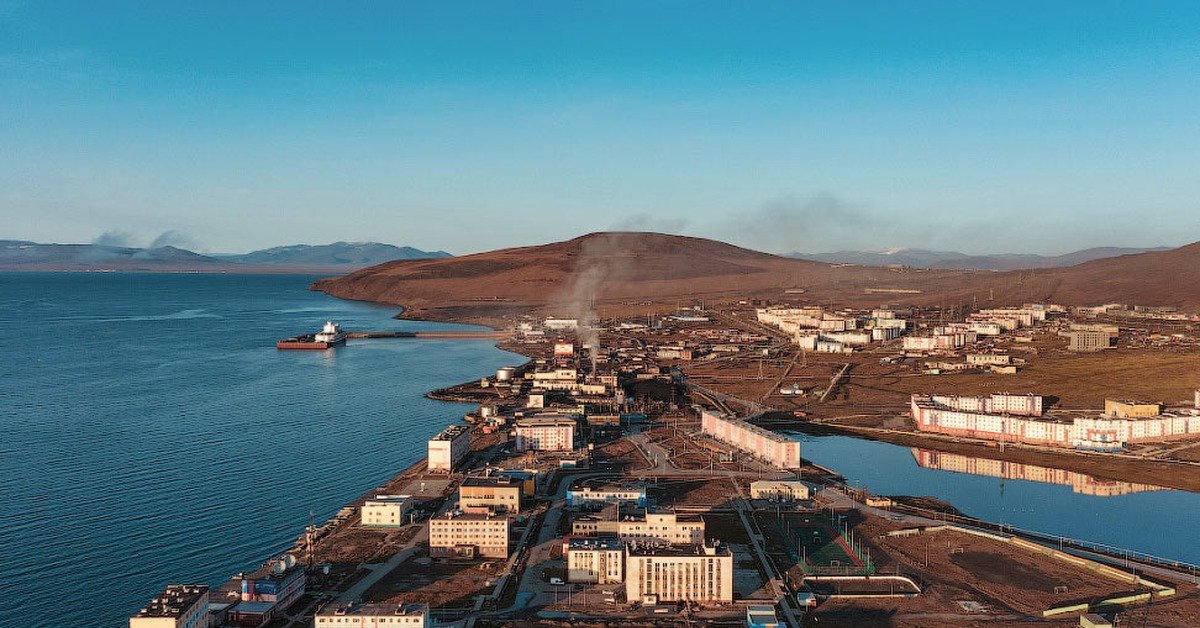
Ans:
[[[968,270],[1022,270],[1031,268],[1064,268],[1093,259],[1122,255],[1165,251],[1166,247],[1128,249],[1098,246],[1058,256],[1043,255],[966,255],[956,251],[929,251],[926,249],[892,249],[887,251],[838,251],[834,253],[791,253],[787,257],[826,262],[830,264],[858,264],[864,267],[906,265],[912,268],[946,268]]]

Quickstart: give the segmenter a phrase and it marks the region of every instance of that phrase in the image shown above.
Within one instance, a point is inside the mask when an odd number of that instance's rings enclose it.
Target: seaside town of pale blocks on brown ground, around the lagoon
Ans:
[[[1196,373],[1192,399],[1022,378],[1195,351],[1194,316],[788,297],[514,319],[500,346],[529,361],[431,393],[473,409],[424,460],[254,569],[166,586],[130,627],[1200,622],[1194,564],[875,495],[791,436],[1092,496],[1196,490]]]

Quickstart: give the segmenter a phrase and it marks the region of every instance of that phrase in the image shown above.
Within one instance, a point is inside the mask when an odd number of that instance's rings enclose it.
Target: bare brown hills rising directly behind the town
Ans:
[[[505,315],[532,311],[625,316],[746,298],[859,306],[1038,300],[1200,306],[1198,255],[1200,244],[1054,270],[913,270],[826,264],[682,235],[593,233],[541,246],[389,262],[320,280],[313,289],[401,305],[406,317],[496,327]]]

